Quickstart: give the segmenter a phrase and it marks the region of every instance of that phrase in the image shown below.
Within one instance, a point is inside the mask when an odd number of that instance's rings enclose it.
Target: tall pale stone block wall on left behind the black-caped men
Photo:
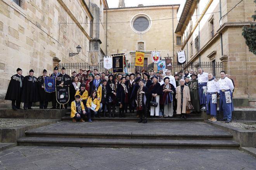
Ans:
[[[90,25],[79,23],[91,17],[83,5],[83,0],[21,0],[20,6],[0,0],[0,104],[7,102],[3,99],[18,67],[24,76],[30,69],[40,76],[43,69],[52,73],[55,57],[64,63],[87,61]],[[69,57],[77,45],[81,53]]]

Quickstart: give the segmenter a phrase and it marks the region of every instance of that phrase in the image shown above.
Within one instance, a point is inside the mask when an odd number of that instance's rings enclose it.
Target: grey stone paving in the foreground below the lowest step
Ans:
[[[0,170],[255,170],[239,150],[16,146],[0,152]]]

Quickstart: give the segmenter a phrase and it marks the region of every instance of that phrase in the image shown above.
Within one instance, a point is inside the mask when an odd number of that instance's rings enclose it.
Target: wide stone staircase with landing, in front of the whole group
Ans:
[[[134,121],[63,121],[26,131],[26,137],[18,139],[17,143],[24,146],[111,148],[238,149],[240,146],[232,140],[231,134],[204,122],[166,120],[142,124]]]

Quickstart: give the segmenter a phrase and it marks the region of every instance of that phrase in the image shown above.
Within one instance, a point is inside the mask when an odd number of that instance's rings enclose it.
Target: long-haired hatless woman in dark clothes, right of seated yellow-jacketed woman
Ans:
[[[115,100],[116,100],[116,83],[114,80],[114,76],[110,75],[109,80],[107,80],[107,99],[108,99],[108,112],[109,117],[111,117],[111,107],[112,107],[112,117],[114,117],[115,113]]]

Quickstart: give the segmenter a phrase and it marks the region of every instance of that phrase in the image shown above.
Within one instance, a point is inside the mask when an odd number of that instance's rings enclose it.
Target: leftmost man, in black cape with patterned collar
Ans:
[[[24,76],[22,76],[22,70],[17,68],[17,74],[11,77],[5,100],[12,101],[12,109],[21,109],[21,94],[23,87]],[[15,105],[16,104],[16,105]]]

